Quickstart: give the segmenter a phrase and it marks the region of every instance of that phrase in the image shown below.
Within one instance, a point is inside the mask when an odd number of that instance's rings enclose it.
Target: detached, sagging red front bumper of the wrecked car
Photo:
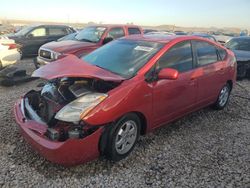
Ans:
[[[45,137],[47,126],[24,115],[23,99],[14,106],[15,120],[25,140],[43,157],[63,166],[73,166],[96,159],[99,156],[99,139],[102,128],[83,139],[55,142]]]

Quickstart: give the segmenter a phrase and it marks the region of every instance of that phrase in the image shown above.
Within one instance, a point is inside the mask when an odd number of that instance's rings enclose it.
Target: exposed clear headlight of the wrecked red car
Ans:
[[[77,98],[57,112],[55,118],[66,122],[79,122],[87,113],[100,104],[105,98],[105,93],[90,93]]]

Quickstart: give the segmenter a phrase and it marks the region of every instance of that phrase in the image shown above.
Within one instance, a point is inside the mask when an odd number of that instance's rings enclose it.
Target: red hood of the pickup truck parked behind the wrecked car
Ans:
[[[79,50],[81,48],[89,48],[97,46],[96,43],[82,42],[75,40],[54,41],[44,44],[41,48],[49,49],[59,53],[68,53],[70,51]]]

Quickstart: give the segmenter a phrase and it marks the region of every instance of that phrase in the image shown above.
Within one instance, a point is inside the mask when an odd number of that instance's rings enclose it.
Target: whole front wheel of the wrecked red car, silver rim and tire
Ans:
[[[140,126],[140,119],[132,113],[117,121],[109,130],[106,157],[112,161],[119,161],[127,157],[138,140]]]

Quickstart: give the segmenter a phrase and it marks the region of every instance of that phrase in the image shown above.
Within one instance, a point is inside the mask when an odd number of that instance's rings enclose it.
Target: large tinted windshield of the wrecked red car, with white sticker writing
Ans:
[[[120,39],[106,44],[82,59],[128,79],[133,77],[163,45],[156,42]]]

